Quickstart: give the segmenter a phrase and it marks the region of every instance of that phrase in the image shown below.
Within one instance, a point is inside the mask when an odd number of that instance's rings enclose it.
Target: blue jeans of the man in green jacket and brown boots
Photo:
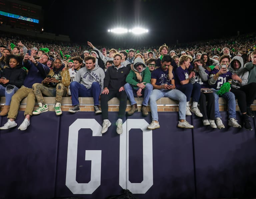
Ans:
[[[136,92],[137,90],[139,90],[139,87],[137,89],[134,89],[134,87],[131,84],[126,83],[124,85],[124,90],[131,102],[131,105],[136,104],[137,102],[135,101],[134,97],[137,97]],[[147,83],[145,89],[142,89],[141,93],[142,93],[142,97],[144,97],[142,105],[144,106],[148,105],[149,97],[151,95],[152,90],[153,90],[153,86],[150,83]]]

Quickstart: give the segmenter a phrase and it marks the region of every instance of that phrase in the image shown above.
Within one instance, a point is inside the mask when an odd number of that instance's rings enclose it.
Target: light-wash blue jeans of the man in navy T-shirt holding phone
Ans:
[[[158,121],[157,104],[156,101],[161,97],[169,97],[170,99],[179,102],[179,119],[186,120],[186,95],[180,90],[158,90],[154,89],[149,98],[149,105],[151,109],[152,120]]]

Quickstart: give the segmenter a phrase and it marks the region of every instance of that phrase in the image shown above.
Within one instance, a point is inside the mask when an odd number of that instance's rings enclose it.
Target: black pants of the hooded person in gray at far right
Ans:
[[[256,83],[252,82],[241,86],[240,88],[231,88],[234,93],[241,113],[246,113],[246,107],[250,107],[256,97]]]

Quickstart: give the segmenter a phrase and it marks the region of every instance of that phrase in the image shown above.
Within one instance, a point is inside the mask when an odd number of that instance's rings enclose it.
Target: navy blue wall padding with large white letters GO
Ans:
[[[229,127],[221,112],[226,128],[218,130],[192,113],[186,119],[195,128],[181,129],[177,112],[159,112],[160,128],[149,131],[151,114],[137,112],[118,135],[117,112],[109,112],[112,125],[102,135],[94,112],[45,112],[20,131],[23,114],[17,127],[0,131],[0,198],[105,199],[123,188],[140,199],[256,196],[255,118],[247,131]],[[3,126],[7,118],[0,120]]]

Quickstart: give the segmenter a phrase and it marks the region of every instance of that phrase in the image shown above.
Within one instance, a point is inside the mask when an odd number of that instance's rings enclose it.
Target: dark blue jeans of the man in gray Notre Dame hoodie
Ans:
[[[99,82],[93,82],[91,88],[86,88],[77,81],[70,83],[72,105],[79,105],[78,97],[93,97],[94,105],[99,105],[101,87]]]

